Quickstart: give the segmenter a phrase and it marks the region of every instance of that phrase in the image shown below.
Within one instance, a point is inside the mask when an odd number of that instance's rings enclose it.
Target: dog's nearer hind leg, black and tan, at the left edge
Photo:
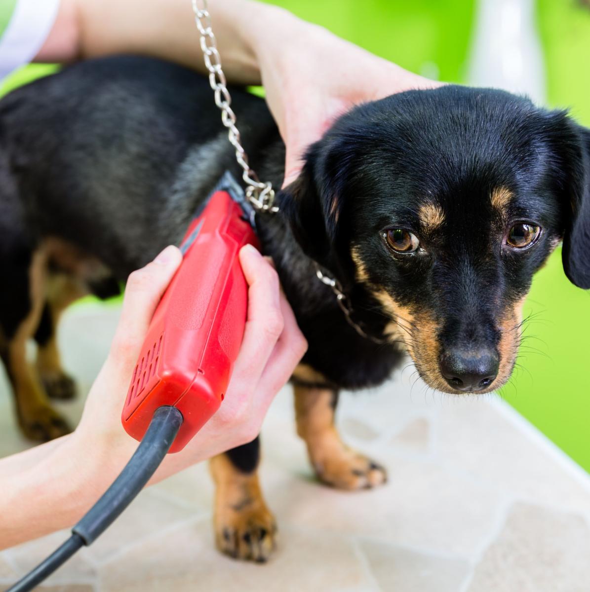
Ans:
[[[46,254],[20,245],[3,250],[4,280],[0,305],[3,346],[0,350],[14,390],[18,423],[31,440],[46,441],[70,431],[53,410],[37,372],[26,359],[27,341],[36,333],[45,303]]]

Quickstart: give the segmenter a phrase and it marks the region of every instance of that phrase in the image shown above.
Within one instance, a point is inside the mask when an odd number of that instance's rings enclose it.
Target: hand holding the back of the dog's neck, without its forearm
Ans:
[[[286,11],[265,7],[258,20],[264,34],[252,43],[287,149],[283,186],[299,175],[307,147],[354,105],[441,85]]]

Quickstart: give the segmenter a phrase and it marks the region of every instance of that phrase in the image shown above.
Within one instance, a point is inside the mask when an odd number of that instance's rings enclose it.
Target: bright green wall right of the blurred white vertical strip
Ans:
[[[582,2],[538,0],[537,21],[549,106],[569,107],[573,117],[590,126],[590,8]],[[526,314],[536,315],[519,359],[526,370],[515,373],[502,395],[590,471],[590,292],[567,281],[561,249],[537,274]]]

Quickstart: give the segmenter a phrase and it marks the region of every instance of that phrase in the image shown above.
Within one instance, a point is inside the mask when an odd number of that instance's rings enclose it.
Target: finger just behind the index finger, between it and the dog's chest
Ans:
[[[254,397],[253,413],[262,422],[275,395],[293,374],[297,364],[307,351],[307,341],[297,325],[297,320],[287,298],[281,292],[281,310],[284,329],[262,371]]]

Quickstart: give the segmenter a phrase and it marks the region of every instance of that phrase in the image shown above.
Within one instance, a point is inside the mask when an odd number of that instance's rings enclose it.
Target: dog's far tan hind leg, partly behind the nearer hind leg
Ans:
[[[37,372],[50,398],[67,400],[75,396],[76,383],[62,368],[57,348],[57,323],[62,311],[88,292],[66,275],[50,276],[47,283],[47,301],[35,333]]]

